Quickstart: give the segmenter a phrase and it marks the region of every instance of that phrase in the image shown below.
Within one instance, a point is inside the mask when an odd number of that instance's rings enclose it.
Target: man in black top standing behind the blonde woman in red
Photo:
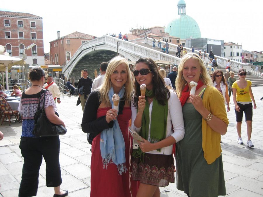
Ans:
[[[80,104],[82,107],[82,111],[84,111],[84,107],[86,104],[86,100],[89,97],[89,94],[91,93],[91,87],[92,87],[92,79],[88,77],[88,71],[87,69],[84,69],[83,77],[79,79],[78,81],[78,90],[79,90],[79,98],[80,98]]]

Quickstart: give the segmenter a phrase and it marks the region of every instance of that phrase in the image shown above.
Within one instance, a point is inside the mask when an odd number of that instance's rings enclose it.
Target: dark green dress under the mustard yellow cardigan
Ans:
[[[177,189],[191,197],[226,195],[222,155],[207,164],[202,149],[202,116],[191,103],[183,106],[185,135],[176,145]]]

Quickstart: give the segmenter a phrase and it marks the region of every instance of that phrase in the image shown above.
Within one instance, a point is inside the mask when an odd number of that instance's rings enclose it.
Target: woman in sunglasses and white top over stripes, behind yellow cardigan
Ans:
[[[213,76],[213,85],[219,90],[223,95],[225,104],[227,105],[227,112],[230,111],[229,107],[229,96],[228,96],[228,86],[226,84],[223,72],[221,70],[216,70]]]

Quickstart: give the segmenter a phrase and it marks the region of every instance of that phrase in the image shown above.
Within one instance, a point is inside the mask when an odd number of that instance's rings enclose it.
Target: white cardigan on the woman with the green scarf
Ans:
[[[179,142],[184,138],[184,118],[182,113],[181,103],[177,97],[177,94],[173,90],[170,91],[170,98],[168,99],[168,116],[167,116],[167,125],[166,125],[166,137],[172,136]],[[153,102],[151,102],[149,107],[150,114],[152,113]],[[140,128],[136,128],[134,126],[134,120],[137,115],[137,109],[134,107],[134,99],[132,98],[131,102],[131,128],[136,130],[137,133],[140,132]],[[148,139],[150,139],[150,125],[151,125],[151,116],[150,116],[150,124],[149,124],[149,132],[148,132]],[[150,154],[164,154],[170,155],[172,154],[173,145],[169,147],[164,147],[161,149],[161,152],[157,150],[149,151],[147,153]]]

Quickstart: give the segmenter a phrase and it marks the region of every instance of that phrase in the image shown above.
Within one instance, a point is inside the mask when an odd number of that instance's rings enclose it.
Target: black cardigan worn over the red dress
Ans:
[[[97,118],[97,110],[100,106],[101,94],[99,90],[93,90],[85,104],[81,128],[84,133],[89,133],[88,141],[91,144],[92,140],[96,135],[101,133],[104,129],[113,128],[113,121],[107,123],[106,116],[101,116]],[[122,114],[122,110],[125,102],[120,101],[119,113]]]

